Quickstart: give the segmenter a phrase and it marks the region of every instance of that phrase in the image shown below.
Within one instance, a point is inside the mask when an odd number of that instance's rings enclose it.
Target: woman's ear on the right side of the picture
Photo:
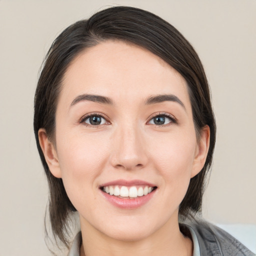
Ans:
[[[193,168],[191,171],[191,178],[198,174],[202,169],[207,153],[209,150],[210,143],[210,128],[208,125],[205,125],[200,132],[199,142],[197,143],[197,147],[194,155]]]

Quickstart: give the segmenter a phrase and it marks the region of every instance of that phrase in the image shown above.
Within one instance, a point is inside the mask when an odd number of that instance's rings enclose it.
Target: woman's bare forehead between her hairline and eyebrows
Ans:
[[[71,61],[59,100],[70,103],[82,93],[114,100],[172,93],[189,101],[186,82],[174,68],[147,49],[113,40],[86,48]]]

